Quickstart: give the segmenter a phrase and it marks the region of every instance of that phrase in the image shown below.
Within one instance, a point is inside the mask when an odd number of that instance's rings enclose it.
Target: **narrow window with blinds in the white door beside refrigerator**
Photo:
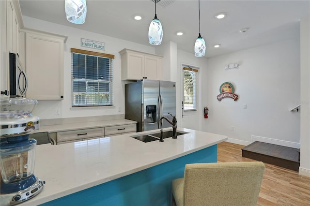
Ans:
[[[196,73],[197,69],[183,67],[184,111],[196,110]]]

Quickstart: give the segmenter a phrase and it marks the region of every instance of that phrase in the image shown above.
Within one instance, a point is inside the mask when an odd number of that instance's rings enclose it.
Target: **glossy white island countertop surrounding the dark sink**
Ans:
[[[41,130],[41,129],[40,129]],[[166,128],[164,131],[171,130]],[[139,132],[150,133],[160,130]],[[39,205],[113,179],[168,162],[216,145],[227,136],[178,128],[189,132],[177,139],[144,143],[124,134],[63,145],[38,145],[34,175],[45,180],[44,189],[21,205]]]

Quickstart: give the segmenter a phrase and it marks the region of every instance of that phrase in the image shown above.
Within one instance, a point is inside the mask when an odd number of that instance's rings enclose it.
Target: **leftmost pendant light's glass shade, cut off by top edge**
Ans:
[[[84,24],[87,13],[86,0],[65,0],[64,10],[68,21]]]

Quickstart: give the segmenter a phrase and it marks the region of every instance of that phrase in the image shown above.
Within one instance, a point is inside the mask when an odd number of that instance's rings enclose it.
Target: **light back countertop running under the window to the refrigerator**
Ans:
[[[137,123],[136,121],[132,121],[129,119],[112,119],[104,121],[89,121],[89,122],[70,123],[70,124],[54,124],[54,125],[40,126],[39,130],[35,132],[62,132],[69,130],[81,130],[97,127],[117,126],[124,124],[136,124],[136,123]]]

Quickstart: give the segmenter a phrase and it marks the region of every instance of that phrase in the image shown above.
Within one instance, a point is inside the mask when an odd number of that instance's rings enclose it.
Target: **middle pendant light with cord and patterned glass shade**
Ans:
[[[155,1],[155,17],[152,20],[149,27],[149,42],[152,45],[159,45],[163,40],[163,28],[161,26],[159,19],[156,16],[156,1],[159,0],[154,1]]]

